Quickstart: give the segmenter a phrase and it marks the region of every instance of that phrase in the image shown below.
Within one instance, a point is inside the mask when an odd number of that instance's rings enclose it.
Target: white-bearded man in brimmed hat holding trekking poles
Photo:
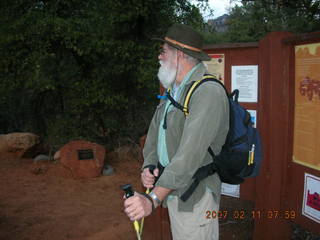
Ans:
[[[191,27],[175,24],[168,29],[159,55],[158,78],[170,95],[183,104],[193,81],[207,73],[202,38]],[[125,212],[133,220],[151,214],[160,204],[168,207],[174,240],[213,240],[219,238],[218,219],[206,212],[219,209],[221,181],[217,174],[200,181],[187,200],[181,196],[192,185],[194,173],[212,162],[209,146],[219,154],[229,128],[229,105],[225,91],[218,83],[208,81],[192,94],[189,114],[162,99],[151,121],[145,147],[141,180],[152,189],[149,196],[135,193],[124,202]],[[149,170],[158,163],[164,167]]]

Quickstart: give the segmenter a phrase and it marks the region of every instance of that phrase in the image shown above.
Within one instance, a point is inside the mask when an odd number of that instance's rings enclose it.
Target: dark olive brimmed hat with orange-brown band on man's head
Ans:
[[[168,29],[164,39],[153,38],[153,40],[165,42],[201,61],[209,61],[211,59],[202,51],[203,39],[201,35],[187,25],[176,23]]]

